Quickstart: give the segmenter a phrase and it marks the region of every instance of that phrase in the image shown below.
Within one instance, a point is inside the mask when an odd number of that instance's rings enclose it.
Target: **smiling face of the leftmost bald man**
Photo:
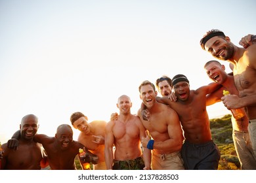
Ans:
[[[26,140],[32,140],[38,130],[39,125],[37,123],[37,117],[33,114],[22,118],[22,122],[20,124],[20,133],[22,138]]]

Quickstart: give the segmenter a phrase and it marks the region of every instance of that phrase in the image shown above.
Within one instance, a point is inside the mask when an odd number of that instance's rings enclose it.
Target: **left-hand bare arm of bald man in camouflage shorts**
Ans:
[[[114,127],[114,121],[108,122],[106,125],[106,134],[105,134],[105,162],[106,168],[108,170],[112,169],[114,155],[113,155],[113,144],[114,144],[114,134],[112,129]]]

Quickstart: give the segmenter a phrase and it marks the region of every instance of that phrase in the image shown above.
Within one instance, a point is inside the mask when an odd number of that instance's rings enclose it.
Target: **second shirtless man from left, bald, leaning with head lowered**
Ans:
[[[16,133],[14,133],[12,139],[20,139],[20,136]],[[79,154],[79,148],[85,150],[83,144],[73,141],[72,127],[68,124],[59,125],[54,137],[48,137],[44,134],[35,134],[33,141],[41,143],[43,148],[45,148],[47,159],[52,170],[75,170],[75,156]],[[18,144],[18,148],[20,148],[20,144]],[[86,152],[87,156],[85,159],[79,158],[80,163],[98,163],[97,156],[88,150],[86,150]]]

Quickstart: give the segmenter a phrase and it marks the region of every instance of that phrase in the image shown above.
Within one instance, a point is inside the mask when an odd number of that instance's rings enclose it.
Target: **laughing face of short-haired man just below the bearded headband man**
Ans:
[[[217,84],[223,84],[227,78],[224,65],[215,61],[205,66],[207,76]]]

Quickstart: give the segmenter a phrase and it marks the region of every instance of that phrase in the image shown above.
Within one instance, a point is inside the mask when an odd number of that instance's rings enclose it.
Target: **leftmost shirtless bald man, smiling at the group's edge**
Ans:
[[[37,116],[28,114],[20,123],[20,139],[18,150],[11,150],[7,143],[2,145],[4,150],[1,169],[5,170],[40,170],[46,157],[41,144],[34,142],[33,137],[38,129]],[[46,165],[44,166],[46,167]]]

